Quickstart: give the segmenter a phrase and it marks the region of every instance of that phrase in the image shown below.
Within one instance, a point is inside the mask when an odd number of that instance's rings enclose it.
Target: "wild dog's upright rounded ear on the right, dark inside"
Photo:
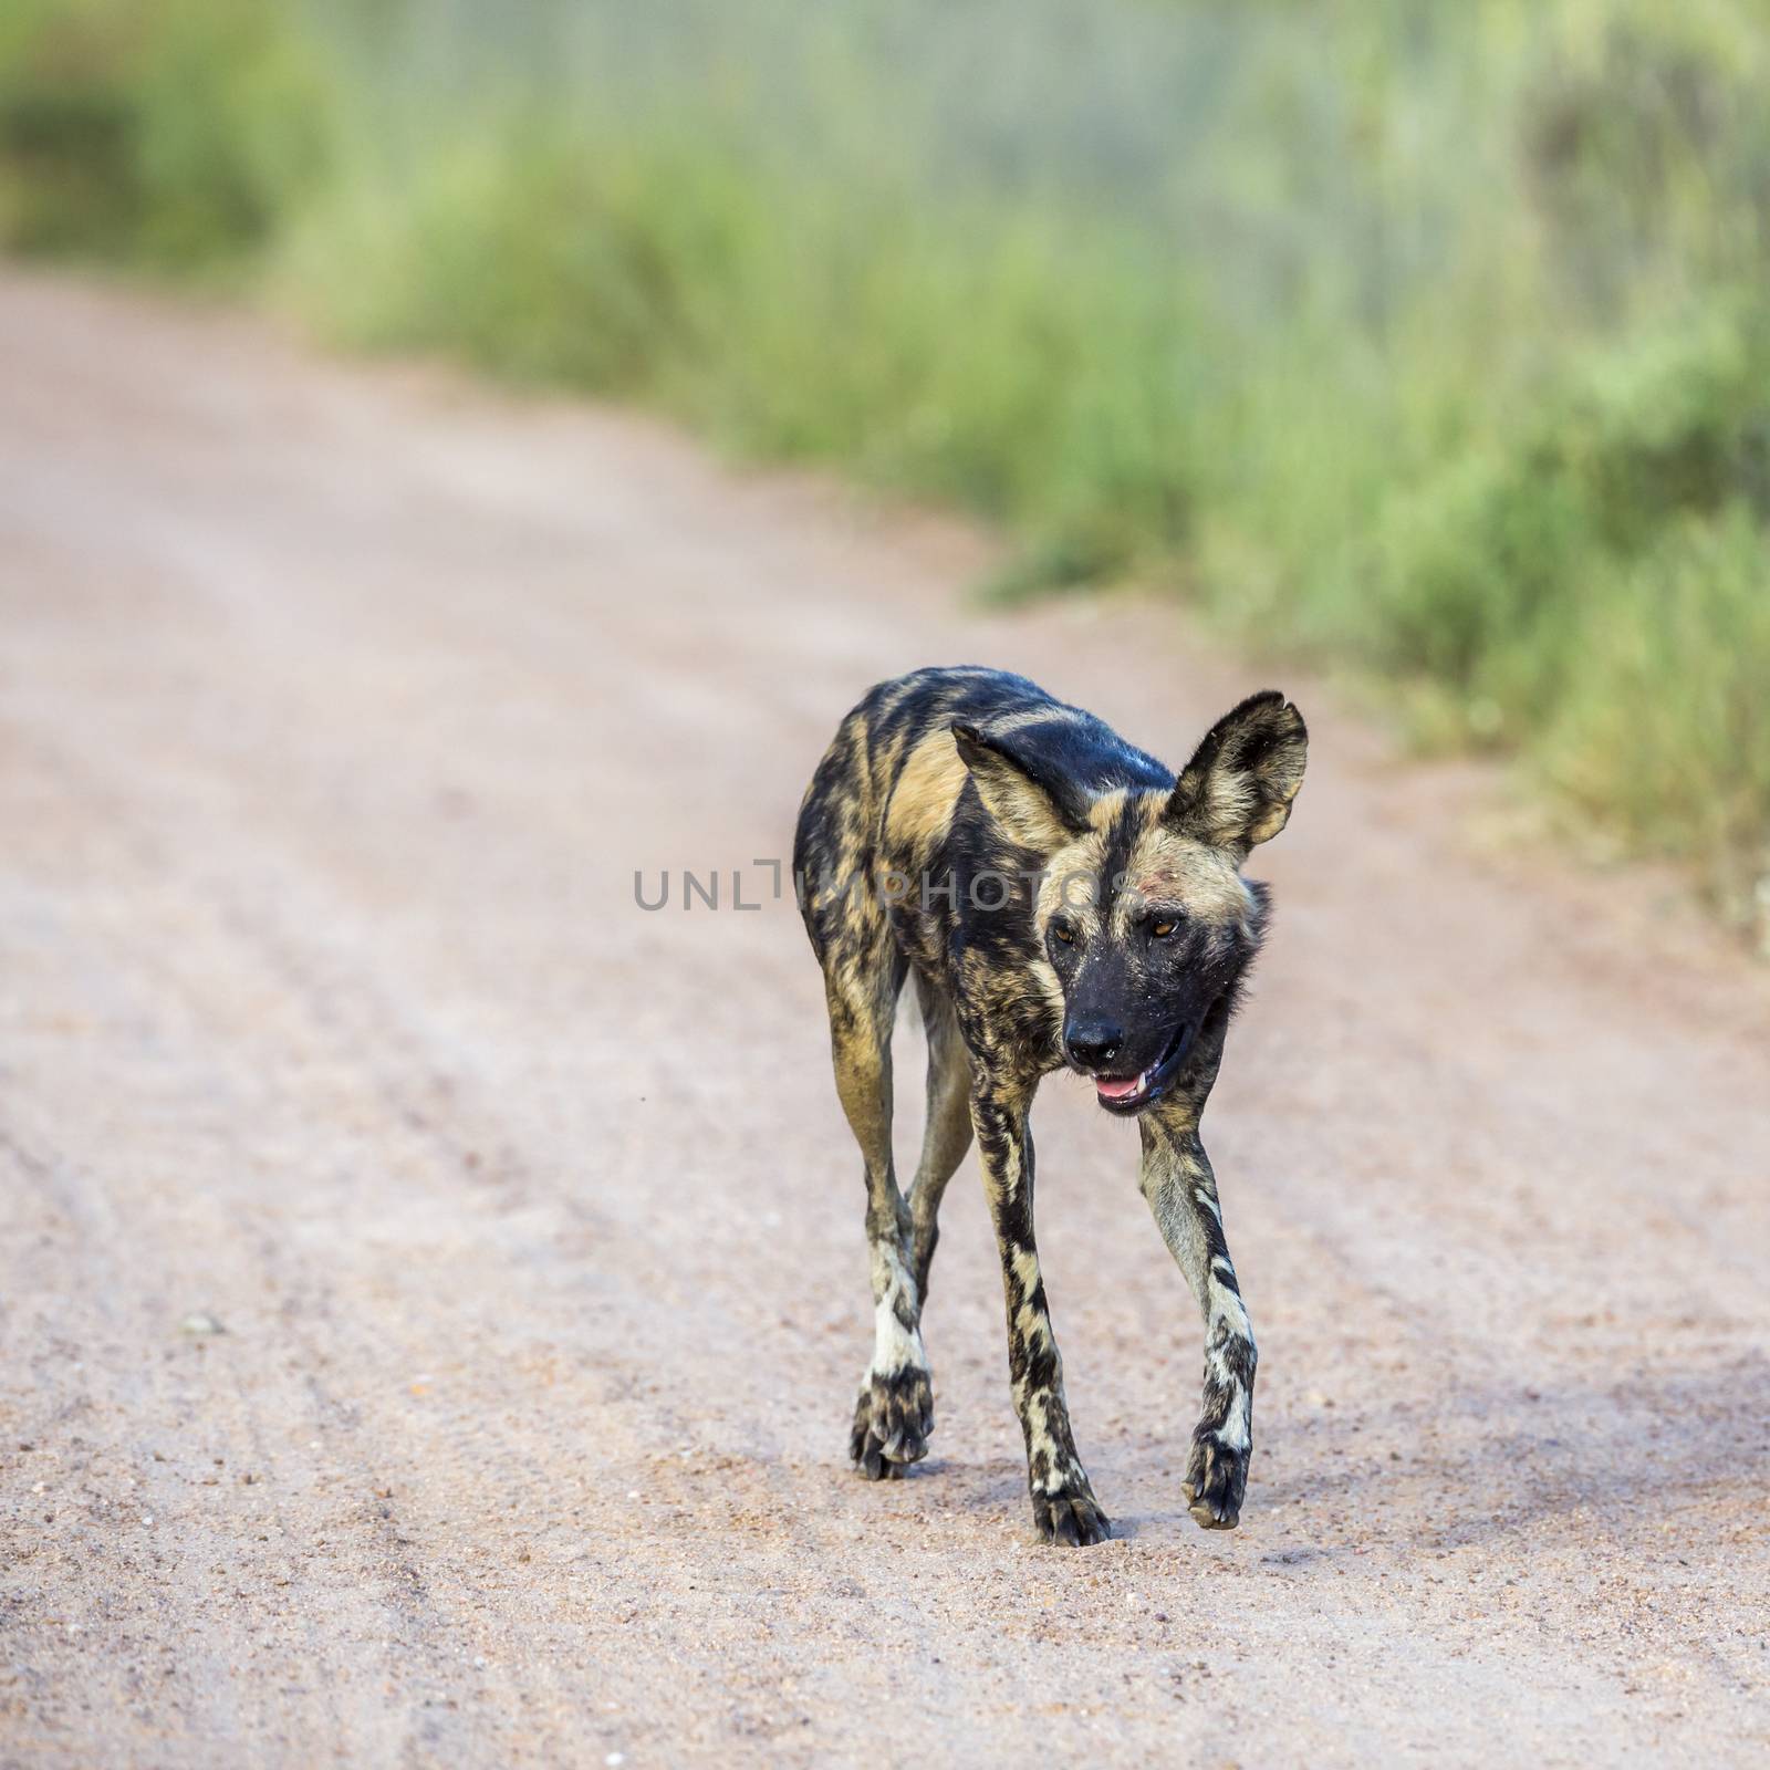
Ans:
[[[1182,835],[1227,850],[1239,866],[1290,820],[1308,754],[1303,715],[1276,689],[1250,694],[1205,733],[1165,818]]]

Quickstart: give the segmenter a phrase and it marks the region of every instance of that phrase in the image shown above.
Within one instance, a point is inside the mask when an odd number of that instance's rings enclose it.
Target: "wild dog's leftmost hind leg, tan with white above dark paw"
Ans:
[[[855,1400],[848,1453],[871,1480],[927,1455],[935,1391],[922,1351],[910,1204],[892,1165],[890,1030],[906,963],[883,915],[858,910],[825,954],[835,1092],[860,1145],[873,1253],[873,1361]],[[876,913],[876,912],[874,912]]]

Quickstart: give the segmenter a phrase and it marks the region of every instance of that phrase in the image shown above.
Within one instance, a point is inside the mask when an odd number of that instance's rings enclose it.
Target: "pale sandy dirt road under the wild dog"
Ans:
[[[981,545],[0,278],[0,1763],[1766,1761],[1763,979],[1483,855],[1481,777],[1294,676],[1205,1126],[1243,1529],[1179,1490],[1135,1131],[1062,1080],[1120,1536],[1032,1540],[975,1161],[935,1453],[848,1471],[858,1159],[759,862],[883,674],[1023,669],[1175,759],[1258,685],[1172,614],[963,614]]]

